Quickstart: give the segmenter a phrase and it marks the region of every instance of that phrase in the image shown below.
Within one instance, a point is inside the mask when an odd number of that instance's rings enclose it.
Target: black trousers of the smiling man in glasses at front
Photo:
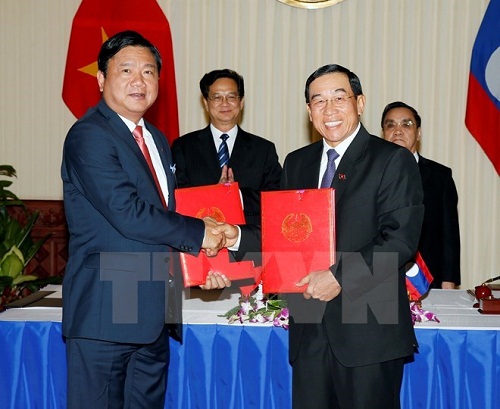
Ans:
[[[345,367],[321,324],[308,324],[292,363],[293,409],[399,409],[404,358]]]

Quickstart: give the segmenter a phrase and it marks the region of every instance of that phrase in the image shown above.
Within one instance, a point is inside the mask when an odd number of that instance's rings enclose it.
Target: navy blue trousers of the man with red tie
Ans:
[[[168,330],[152,344],[66,339],[67,409],[163,409]]]

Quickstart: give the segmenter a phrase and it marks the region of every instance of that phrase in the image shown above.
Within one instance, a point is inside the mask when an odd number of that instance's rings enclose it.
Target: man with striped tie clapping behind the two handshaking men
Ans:
[[[260,192],[279,188],[281,165],[274,144],[238,126],[245,103],[243,77],[229,69],[211,71],[200,80],[210,125],[174,141],[172,155],[179,187],[236,181],[243,196],[245,220],[260,224]],[[229,161],[219,161],[227,135]],[[224,156],[224,155],[222,155]],[[226,157],[227,158],[227,157]]]

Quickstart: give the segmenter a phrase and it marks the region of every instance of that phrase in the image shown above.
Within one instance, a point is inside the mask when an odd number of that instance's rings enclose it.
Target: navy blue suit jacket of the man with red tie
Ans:
[[[171,248],[200,250],[203,221],[174,212],[167,140],[151,124],[146,128],[167,175],[168,210],[130,130],[104,100],[73,125],[64,142],[66,337],[155,341],[167,318]]]

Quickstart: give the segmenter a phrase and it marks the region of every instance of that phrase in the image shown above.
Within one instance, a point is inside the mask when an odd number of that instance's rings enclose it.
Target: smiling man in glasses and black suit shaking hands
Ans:
[[[289,297],[293,407],[399,408],[404,360],[416,346],[404,266],[423,218],[418,167],[361,125],[365,96],[348,69],[319,68],[305,97],[323,139],[286,157],[282,188],[335,189],[337,253],[333,266],[297,283],[303,295]],[[245,232],[220,229],[228,245],[250,249]]]

